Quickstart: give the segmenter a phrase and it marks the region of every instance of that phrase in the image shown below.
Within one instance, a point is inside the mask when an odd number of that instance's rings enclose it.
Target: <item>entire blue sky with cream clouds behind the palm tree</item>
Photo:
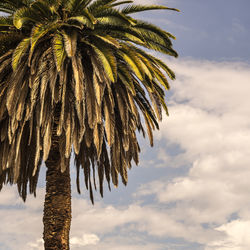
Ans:
[[[135,1],[145,4],[145,1]],[[141,138],[140,164],[127,187],[76,194],[72,250],[250,249],[250,2],[150,1],[181,10],[136,17],[176,36],[176,72],[151,148]],[[159,55],[158,55],[159,56]],[[72,176],[74,176],[73,161]],[[37,198],[15,187],[0,193],[0,249],[42,250],[44,171]]]

